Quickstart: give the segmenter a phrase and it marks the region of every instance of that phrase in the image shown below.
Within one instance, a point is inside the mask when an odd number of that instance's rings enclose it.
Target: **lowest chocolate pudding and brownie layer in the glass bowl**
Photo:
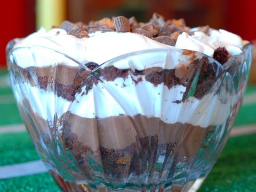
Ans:
[[[167,124],[145,116],[88,119],[69,114],[67,119],[65,146],[80,168],[90,172],[93,156],[104,173],[113,177],[128,177],[146,169],[152,174],[157,163],[170,163],[174,158],[177,164],[190,165],[212,127]]]

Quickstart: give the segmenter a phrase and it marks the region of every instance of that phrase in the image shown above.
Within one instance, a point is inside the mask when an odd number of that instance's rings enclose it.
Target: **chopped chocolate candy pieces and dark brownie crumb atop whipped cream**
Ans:
[[[169,19],[165,21],[164,17],[157,13],[152,15],[149,22],[138,22],[135,17],[127,19],[126,17],[118,16],[112,17],[112,19],[106,17],[97,21],[91,20],[87,25],[83,22],[73,24],[69,21],[64,21],[61,24],[61,28],[65,29],[68,34],[78,38],[89,37],[88,34],[96,31],[133,32],[171,46],[175,46],[177,38],[182,32],[186,32],[190,36],[194,34],[194,32],[190,31],[190,27],[186,26],[184,19]],[[209,35],[209,29],[209,26],[206,25],[199,27],[196,31]],[[220,50],[216,49],[214,58],[223,64],[227,62],[229,55],[225,50]]]

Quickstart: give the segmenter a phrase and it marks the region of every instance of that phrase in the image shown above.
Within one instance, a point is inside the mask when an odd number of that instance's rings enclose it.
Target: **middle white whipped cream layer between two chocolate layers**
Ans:
[[[55,114],[61,117],[70,111],[85,118],[143,115],[158,117],[170,124],[180,122],[208,127],[221,125],[227,121],[231,107],[237,102],[235,95],[229,95],[225,103],[221,102],[219,95],[214,94],[217,85],[213,87],[212,93],[202,99],[189,97],[184,102],[176,102],[182,100],[186,87],[177,85],[168,89],[163,83],[154,87],[143,76],[142,81],[137,84],[131,78],[99,82],[87,94],[77,93],[73,102],[29,83],[22,83],[21,86],[26,90],[31,109],[48,121],[53,121]],[[85,87],[82,90],[85,90]]]

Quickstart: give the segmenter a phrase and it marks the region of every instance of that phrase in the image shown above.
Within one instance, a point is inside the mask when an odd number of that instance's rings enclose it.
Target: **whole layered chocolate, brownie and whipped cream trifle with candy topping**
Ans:
[[[10,42],[7,57],[27,127],[66,154],[73,182],[187,191],[232,127],[244,82],[230,87],[227,67],[246,61],[248,43],[159,14],[118,16],[41,28]]]

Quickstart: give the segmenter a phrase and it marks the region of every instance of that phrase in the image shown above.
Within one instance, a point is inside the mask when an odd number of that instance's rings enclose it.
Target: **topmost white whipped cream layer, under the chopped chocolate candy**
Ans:
[[[198,51],[212,57],[214,49],[218,47],[225,47],[230,55],[240,54],[242,52],[242,46],[247,43],[247,41],[243,41],[240,36],[223,29],[219,31],[210,29],[209,36],[203,32],[195,31],[195,28],[191,29],[191,31],[194,31],[194,35],[192,36],[189,36],[186,32],[178,36],[175,44],[176,48]],[[92,61],[99,65],[112,58],[134,51],[155,48],[173,48],[173,46],[168,46],[140,34],[130,32],[95,32],[90,34],[90,37],[79,39],[67,34],[65,30],[59,28],[51,29],[48,32],[41,28],[38,32],[26,38],[16,39],[14,47],[24,46],[43,46],[66,54],[80,64]],[[54,62],[55,58],[51,58],[49,54],[42,52],[42,50],[40,50],[40,53],[37,53],[36,49],[34,51],[36,52],[35,55],[39,54],[45,56],[45,62],[41,62],[38,66],[49,66]],[[19,57],[22,58],[21,55],[19,55]],[[24,57],[23,59],[26,61]],[[19,62],[19,65],[22,68],[26,68],[33,66],[33,63]],[[72,66],[73,64],[65,62],[65,65]],[[175,65],[178,65],[178,62],[173,65],[174,66],[170,67],[175,67]],[[128,66],[120,65],[115,67],[124,69]],[[144,68],[150,67],[151,66],[147,66],[147,64],[144,66]],[[140,67],[136,69],[141,70]]]

